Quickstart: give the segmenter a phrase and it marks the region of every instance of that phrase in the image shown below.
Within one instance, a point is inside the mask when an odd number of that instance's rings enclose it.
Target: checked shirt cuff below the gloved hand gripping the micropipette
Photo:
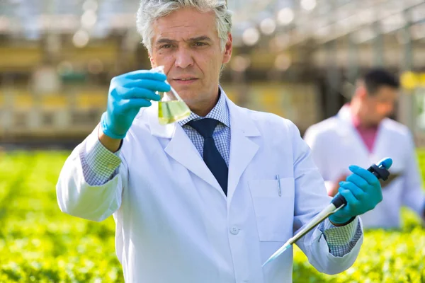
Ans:
[[[358,216],[345,226],[334,226],[326,219],[319,225],[319,229],[327,241],[329,252],[336,257],[350,253],[363,235]]]

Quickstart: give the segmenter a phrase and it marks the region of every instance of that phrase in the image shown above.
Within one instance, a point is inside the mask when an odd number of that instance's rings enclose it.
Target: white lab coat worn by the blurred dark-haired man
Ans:
[[[352,164],[368,168],[382,158],[392,158],[390,172],[401,175],[383,186],[382,202],[361,215],[365,228],[398,228],[402,205],[422,215],[425,199],[421,192],[421,176],[414,141],[404,125],[388,118],[383,120],[370,154],[351,122],[349,106],[344,105],[336,116],[308,128],[304,139],[312,149],[314,162],[329,187],[341,175],[350,174],[348,166]]]

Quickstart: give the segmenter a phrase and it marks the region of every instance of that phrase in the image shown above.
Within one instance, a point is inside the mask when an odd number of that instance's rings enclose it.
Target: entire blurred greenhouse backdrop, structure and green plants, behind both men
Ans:
[[[402,82],[393,118],[414,133],[425,180],[423,0],[228,4],[234,53],[221,83],[234,103],[288,118],[303,134],[338,112],[359,74],[385,67]],[[106,110],[113,76],[151,68],[137,7],[0,0],[1,283],[123,282],[113,219],[63,214],[55,185],[70,149]],[[397,231],[365,231],[355,265],[337,276],[314,270],[295,247],[294,282],[425,283],[425,228],[407,210],[403,220]]]

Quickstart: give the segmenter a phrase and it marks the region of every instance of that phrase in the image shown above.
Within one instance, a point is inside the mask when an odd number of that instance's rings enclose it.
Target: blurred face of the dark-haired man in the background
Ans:
[[[391,115],[397,100],[397,89],[381,86],[372,95],[365,96],[363,108],[369,124],[378,125],[385,117]]]

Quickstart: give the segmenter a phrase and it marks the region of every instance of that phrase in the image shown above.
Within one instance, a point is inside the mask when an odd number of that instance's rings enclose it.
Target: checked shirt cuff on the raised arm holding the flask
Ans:
[[[89,185],[103,185],[111,180],[118,173],[121,163],[119,155],[120,149],[115,153],[109,151],[96,134],[91,134],[79,154],[86,182]]]

